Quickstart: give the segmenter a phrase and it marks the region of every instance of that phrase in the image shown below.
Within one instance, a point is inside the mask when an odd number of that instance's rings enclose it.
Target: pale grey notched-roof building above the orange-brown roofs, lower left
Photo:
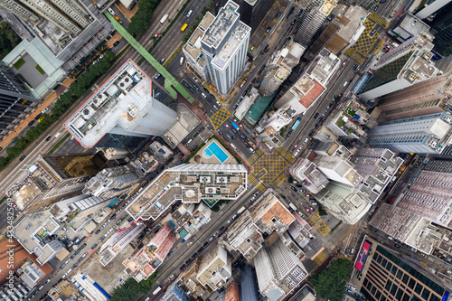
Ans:
[[[50,212],[23,216],[15,225],[13,235],[36,261],[43,265],[55,257],[64,248],[61,240],[53,237],[61,228],[61,223]]]

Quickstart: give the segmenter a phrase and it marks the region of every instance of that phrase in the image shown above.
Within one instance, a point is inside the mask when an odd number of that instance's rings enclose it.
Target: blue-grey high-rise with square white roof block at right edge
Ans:
[[[400,153],[440,154],[449,144],[451,124],[446,112],[392,120],[373,127],[368,143]]]

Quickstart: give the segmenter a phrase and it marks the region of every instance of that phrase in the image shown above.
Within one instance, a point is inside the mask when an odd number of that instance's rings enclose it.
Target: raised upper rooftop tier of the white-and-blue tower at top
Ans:
[[[202,37],[202,42],[217,48],[231,30],[231,26],[240,18],[239,5],[229,1],[224,5]]]

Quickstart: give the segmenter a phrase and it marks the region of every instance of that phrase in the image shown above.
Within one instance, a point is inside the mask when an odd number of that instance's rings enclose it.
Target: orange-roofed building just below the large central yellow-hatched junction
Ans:
[[[254,224],[262,233],[277,231],[278,234],[282,234],[295,221],[294,216],[278,200],[278,197],[272,190],[259,197],[254,207],[252,207],[250,214],[252,221],[254,221]]]

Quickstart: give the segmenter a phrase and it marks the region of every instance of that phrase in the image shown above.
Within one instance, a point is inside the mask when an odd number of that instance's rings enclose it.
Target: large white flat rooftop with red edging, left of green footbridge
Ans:
[[[152,81],[126,61],[64,124],[84,147],[95,146],[113,127],[134,127],[153,101]]]

